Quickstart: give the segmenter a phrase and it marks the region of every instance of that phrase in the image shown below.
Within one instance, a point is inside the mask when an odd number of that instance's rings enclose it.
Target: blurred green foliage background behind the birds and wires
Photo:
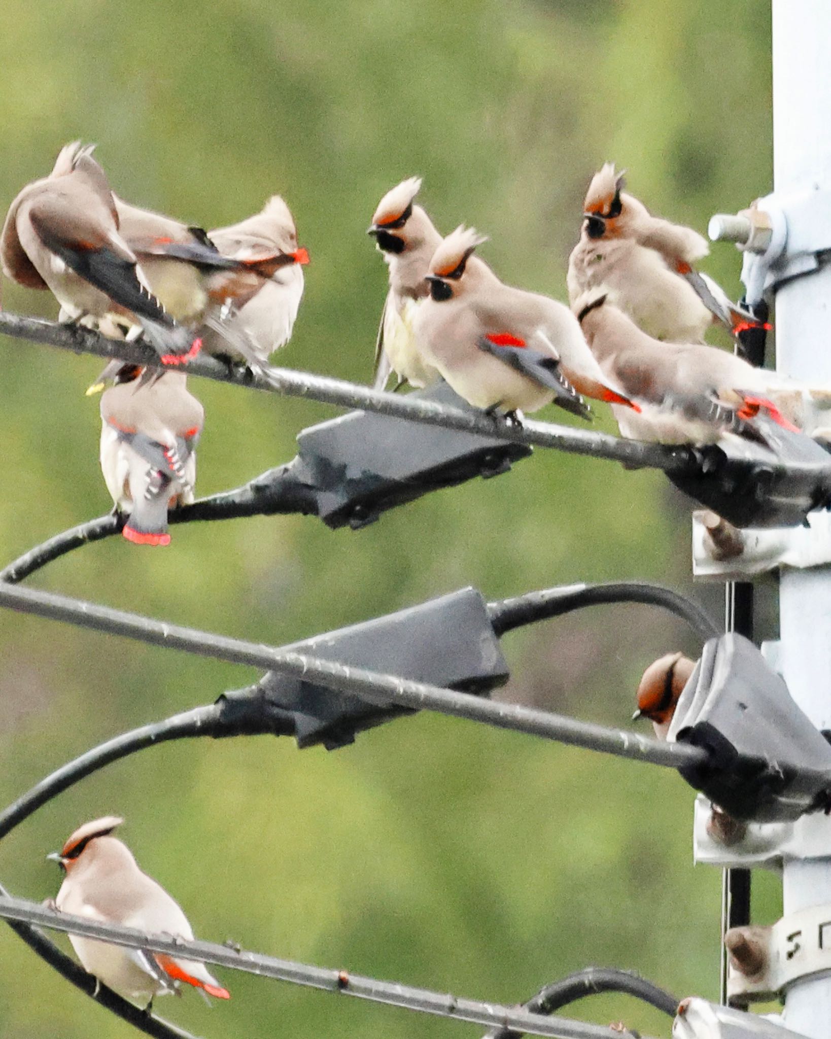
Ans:
[[[0,202],[75,138],[98,142],[123,197],[204,227],[280,192],[312,266],[279,363],[367,381],[385,267],[364,232],[388,187],[422,175],[440,229],[474,223],[506,281],[564,298],[602,161],[699,230],[769,190],[769,36],[758,0],[5,0]],[[706,265],[731,291],[738,268],[726,246]],[[7,283],[3,305],[57,311]],[[0,338],[0,365],[6,561],[110,502],[98,406],[83,395],[99,362]],[[200,494],[288,460],[297,431],[334,414],[191,389],[207,408]],[[629,577],[690,590],[689,502],[658,473],[538,451],[360,532],[300,516],[177,527],[167,550],[112,538],[32,583],[280,644],[465,584],[495,598]],[[717,592],[699,594],[720,609]],[[616,725],[646,664],[697,652],[682,625],[641,607],[504,645],[513,677],[502,695]],[[257,677],[9,613],[0,647],[3,803],[118,731]],[[716,997],[720,877],[693,869],[692,800],[669,771],[419,716],[333,753],[266,739],[144,751],[3,842],[0,876],[17,894],[54,895],[46,852],[118,812],[139,862],[206,938],[507,1003],[588,964]],[[776,885],[759,889],[756,915],[773,920]],[[0,1039],[128,1034],[3,928],[0,964]],[[192,995],[158,1009],[229,1039],[475,1031],[223,979],[234,998],[212,1013]],[[669,1034],[668,1019],[624,998],[572,1012]]]

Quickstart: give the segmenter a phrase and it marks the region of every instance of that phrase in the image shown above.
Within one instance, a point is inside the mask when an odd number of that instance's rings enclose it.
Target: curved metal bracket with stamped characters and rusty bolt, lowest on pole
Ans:
[[[732,928],[726,937],[728,948],[750,954],[730,956],[730,1001],[773,1000],[803,978],[831,974],[831,906],[801,909],[773,927]]]

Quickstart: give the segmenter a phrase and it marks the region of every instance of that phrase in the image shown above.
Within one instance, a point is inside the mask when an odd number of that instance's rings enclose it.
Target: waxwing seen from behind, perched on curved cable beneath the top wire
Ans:
[[[142,381],[126,365],[101,398],[101,470],[122,533],[136,544],[169,544],[167,509],[193,501],[196,442],[205,411],[183,372]]]

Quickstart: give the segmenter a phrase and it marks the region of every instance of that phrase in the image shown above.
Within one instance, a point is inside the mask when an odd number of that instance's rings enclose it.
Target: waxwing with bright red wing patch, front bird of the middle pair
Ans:
[[[568,308],[504,285],[473,255],[483,241],[472,228],[457,228],[430,262],[430,297],[413,322],[428,363],[471,404],[509,417],[551,401],[585,416],[580,394],[628,404]]]

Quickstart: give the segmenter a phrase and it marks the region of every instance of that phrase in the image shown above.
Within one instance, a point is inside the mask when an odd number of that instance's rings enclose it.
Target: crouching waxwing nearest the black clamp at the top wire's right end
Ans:
[[[698,445],[726,433],[757,438],[747,420],[759,412],[819,435],[807,420],[831,404],[827,389],[803,387],[715,346],[652,339],[602,288],[580,296],[574,309],[605,375],[640,404],[637,412],[613,405],[623,436]]]

